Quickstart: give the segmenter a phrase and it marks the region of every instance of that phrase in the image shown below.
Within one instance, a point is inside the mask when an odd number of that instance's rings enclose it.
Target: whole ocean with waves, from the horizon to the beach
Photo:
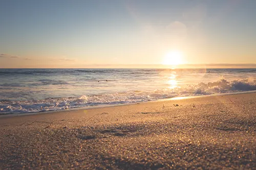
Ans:
[[[256,69],[0,69],[0,114],[256,90]]]

